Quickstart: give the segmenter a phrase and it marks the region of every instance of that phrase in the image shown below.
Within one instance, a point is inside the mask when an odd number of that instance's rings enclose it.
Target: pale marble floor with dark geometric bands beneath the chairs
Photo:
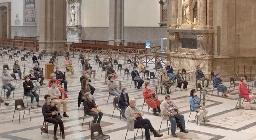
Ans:
[[[50,57],[48,57],[45,62],[48,62]],[[0,62],[0,68],[3,67],[3,64],[9,64],[9,67],[12,69],[14,62],[7,61],[7,58],[4,58]],[[20,60],[20,58],[18,58]],[[102,60],[102,58],[101,58]],[[80,107],[78,110],[78,93],[80,91],[80,80],[81,68],[80,64],[78,65],[78,55],[75,55],[75,58],[72,58],[74,66],[74,75],[67,75],[66,79],[68,81],[68,99],[67,99],[67,114],[69,118],[63,118],[66,140],[90,140],[90,129],[89,129],[89,120],[88,117],[84,119],[84,124],[82,127],[84,111],[83,107]],[[27,74],[29,69],[32,67],[32,60],[29,60],[29,64],[26,65]],[[58,66],[61,71],[64,71],[64,56],[60,56],[58,60]],[[93,58],[90,60],[93,69],[97,70],[97,66],[93,64]],[[119,63],[124,63],[119,61]],[[41,67],[43,64],[40,65]],[[123,65],[125,68],[126,66]],[[153,65],[149,65],[148,70],[153,71]],[[43,66],[44,68],[44,66]],[[22,67],[23,70],[23,67]],[[131,69],[130,69],[131,71]],[[0,70],[2,73],[2,70]],[[23,71],[22,71],[23,73]],[[100,69],[96,73],[97,80],[92,80],[91,85],[96,88],[94,97],[96,98],[96,103],[102,109],[104,116],[101,121],[101,126],[104,134],[110,135],[111,140],[124,140],[126,134],[127,121],[122,118],[119,119],[119,112],[115,110],[113,118],[112,113],[114,110],[112,104],[112,98],[109,99],[109,103],[106,105],[108,99],[108,88],[107,85],[102,84],[104,82],[104,74],[101,77]],[[14,112],[14,100],[20,99],[23,97],[23,87],[22,83],[24,80],[20,81],[20,88],[18,83],[16,85],[16,90],[14,90],[14,98],[10,96],[9,99],[5,99],[6,102],[9,102],[9,106],[2,105],[0,111],[0,140],[47,140],[47,134],[40,134],[40,128],[43,124],[43,116],[41,108],[35,107],[31,109],[31,121],[29,120],[28,111],[26,111],[25,117],[22,120],[21,113],[21,123],[19,124],[18,112],[15,112],[14,121],[12,122],[12,116]],[[137,100],[138,107],[143,106],[143,96],[142,90],[135,90],[134,84],[130,88],[131,78],[127,81],[127,77],[124,77],[123,73],[116,80],[116,83],[121,81],[122,87],[128,88],[130,98],[135,98]],[[48,80],[45,80],[48,83]],[[167,122],[163,122],[160,132],[163,133],[163,137],[154,138],[153,134],[151,135],[151,140],[256,140],[256,111],[255,110],[237,110],[235,105],[237,103],[238,95],[230,94],[228,98],[218,97],[216,89],[212,93],[212,84],[210,85],[211,89],[208,89],[209,100],[206,101],[207,108],[209,110],[208,119],[209,123],[197,126],[194,121],[195,113],[191,114],[189,123],[187,123],[189,118],[189,93],[192,88],[194,88],[194,80],[188,81],[189,86],[188,90],[181,92],[179,89],[175,91],[175,86],[171,87],[171,98],[178,105],[183,115],[185,116],[186,129],[189,133],[176,132],[177,138],[173,138],[171,135],[168,135],[167,131]],[[12,82],[15,85],[15,81]],[[2,83],[0,83],[1,85]],[[158,85],[156,80],[155,86]],[[229,81],[224,82],[224,85],[229,86]],[[153,87],[153,81],[151,80],[151,87]],[[158,86],[159,88],[159,86]],[[251,89],[252,87],[250,87]],[[155,89],[155,88],[154,88]],[[48,86],[43,85],[40,88],[40,103],[43,104],[45,100],[43,99],[44,95],[47,94]],[[237,92],[237,91],[236,91]],[[254,93],[255,91],[253,91]],[[234,93],[234,91],[232,92]],[[2,95],[3,98],[3,95]],[[161,101],[164,100],[164,96],[158,97]],[[29,99],[30,100],[30,99]],[[26,104],[26,101],[25,101]],[[144,118],[148,118],[153,124],[155,130],[159,130],[161,118],[153,116],[153,112],[148,114],[147,105],[143,108]],[[92,118],[90,118],[92,120]],[[144,131],[143,131],[144,133]],[[58,130],[58,138],[59,136]],[[145,138],[145,135],[144,135]],[[53,139],[53,125],[49,124],[49,139]],[[134,140],[134,134],[132,131],[129,131],[127,134],[127,140]],[[137,140],[142,139],[141,132],[138,132]]]

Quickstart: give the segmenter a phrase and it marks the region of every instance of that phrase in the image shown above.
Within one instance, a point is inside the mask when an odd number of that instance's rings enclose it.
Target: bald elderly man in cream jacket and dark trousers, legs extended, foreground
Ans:
[[[151,125],[151,122],[148,119],[142,118],[143,113],[136,106],[136,100],[134,98],[131,98],[129,100],[129,103],[130,105],[125,110],[125,116],[128,121],[127,130],[133,131],[134,128],[144,128],[146,140],[150,140],[149,130],[153,132],[154,137],[162,137],[163,134],[158,133],[153,128],[153,126]]]

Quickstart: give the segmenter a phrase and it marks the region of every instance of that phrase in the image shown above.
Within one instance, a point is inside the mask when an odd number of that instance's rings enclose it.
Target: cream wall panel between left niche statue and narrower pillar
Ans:
[[[109,27],[109,0],[82,0],[83,27]]]

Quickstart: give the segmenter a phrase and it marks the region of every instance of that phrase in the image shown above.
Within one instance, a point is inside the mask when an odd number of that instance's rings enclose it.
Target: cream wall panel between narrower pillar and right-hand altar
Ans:
[[[159,27],[158,0],[124,0],[124,26]]]

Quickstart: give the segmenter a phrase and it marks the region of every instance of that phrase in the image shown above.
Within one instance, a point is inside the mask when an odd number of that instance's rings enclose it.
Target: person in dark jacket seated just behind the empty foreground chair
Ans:
[[[92,123],[100,123],[103,113],[92,100],[90,92],[85,93],[86,100],[83,102],[84,110],[88,115],[94,116]]]

